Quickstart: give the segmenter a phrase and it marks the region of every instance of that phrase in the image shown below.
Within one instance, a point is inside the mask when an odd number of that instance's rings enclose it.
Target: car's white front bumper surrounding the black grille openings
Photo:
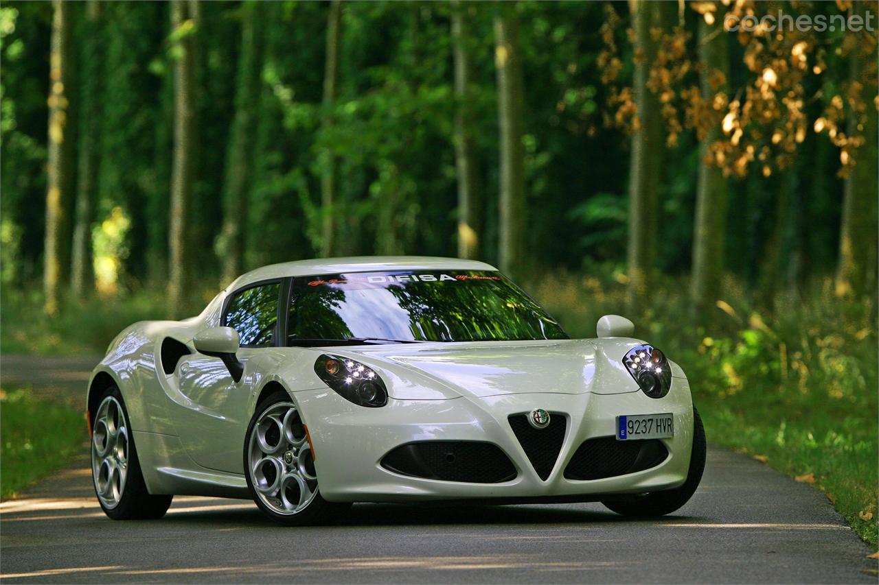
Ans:
[[[438,401],[390,399],[383,408],[361,408],[326,390],[294,393],[309,427],[323,497],[331,502],[419,500],[598,500],[599,495],[639,494],[676,488],[686,480],[693,442],[693,403],[686,379],[651,399],[625,394],[506,394]],[[567,428],[556,464],[541,480],[507,417],[543,408],[563,413]],[[585,440],[614,436],[617,415],[674,415],[674,437],[662,439],[669,455],[650,469],[599,480],[568,480],[564,469]],[[503,483],[429,480],[393,473],[381,459],[414,441],[487,441],[512,460],[517,474]]]

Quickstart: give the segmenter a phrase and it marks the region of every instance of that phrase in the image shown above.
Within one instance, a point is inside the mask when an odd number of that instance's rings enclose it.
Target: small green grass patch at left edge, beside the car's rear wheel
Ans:
[[[82,413],[0,390],[0,495],[8,498],[64,465],[88,440]]]

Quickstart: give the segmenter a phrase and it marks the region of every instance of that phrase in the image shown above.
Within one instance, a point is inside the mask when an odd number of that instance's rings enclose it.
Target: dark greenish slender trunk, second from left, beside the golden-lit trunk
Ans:
[[[99,144],[101,135],[100,86],[103,59],[101,57],[101,4],[89,0],[85,8],[83,70],[80,104],[82,104],[79,136],[79,171],[76,185],[76,217],[73,227],[73,250],[70,262],[70,285],[74,296],[81,299],[94,285],[91,263],[91,222],[95,201],[98,199]]]

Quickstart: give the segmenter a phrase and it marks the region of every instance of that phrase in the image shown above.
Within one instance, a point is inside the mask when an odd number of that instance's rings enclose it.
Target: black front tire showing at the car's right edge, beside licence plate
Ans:
[[[693,407],[693,451],[690,455],[690,469],[686,481],[679,488],[642,495],[633,500],[602,501],[607,508],[623,516],[665,516],[680,509],[694,495],[702,472],[705,471],[705,456],[708,451],[705,443],[705,429],[699,411]]]

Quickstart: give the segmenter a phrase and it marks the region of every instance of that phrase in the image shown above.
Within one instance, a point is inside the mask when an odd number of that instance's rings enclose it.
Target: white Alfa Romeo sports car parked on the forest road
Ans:
[[[470,260],[265,266],[110,343],[88,389],[95,491],[114,519],[173,495],[252,498],[284,524],[428,500],[668,514],[705,434],[684,372],[633,332],[606,315],[570,339]]]

